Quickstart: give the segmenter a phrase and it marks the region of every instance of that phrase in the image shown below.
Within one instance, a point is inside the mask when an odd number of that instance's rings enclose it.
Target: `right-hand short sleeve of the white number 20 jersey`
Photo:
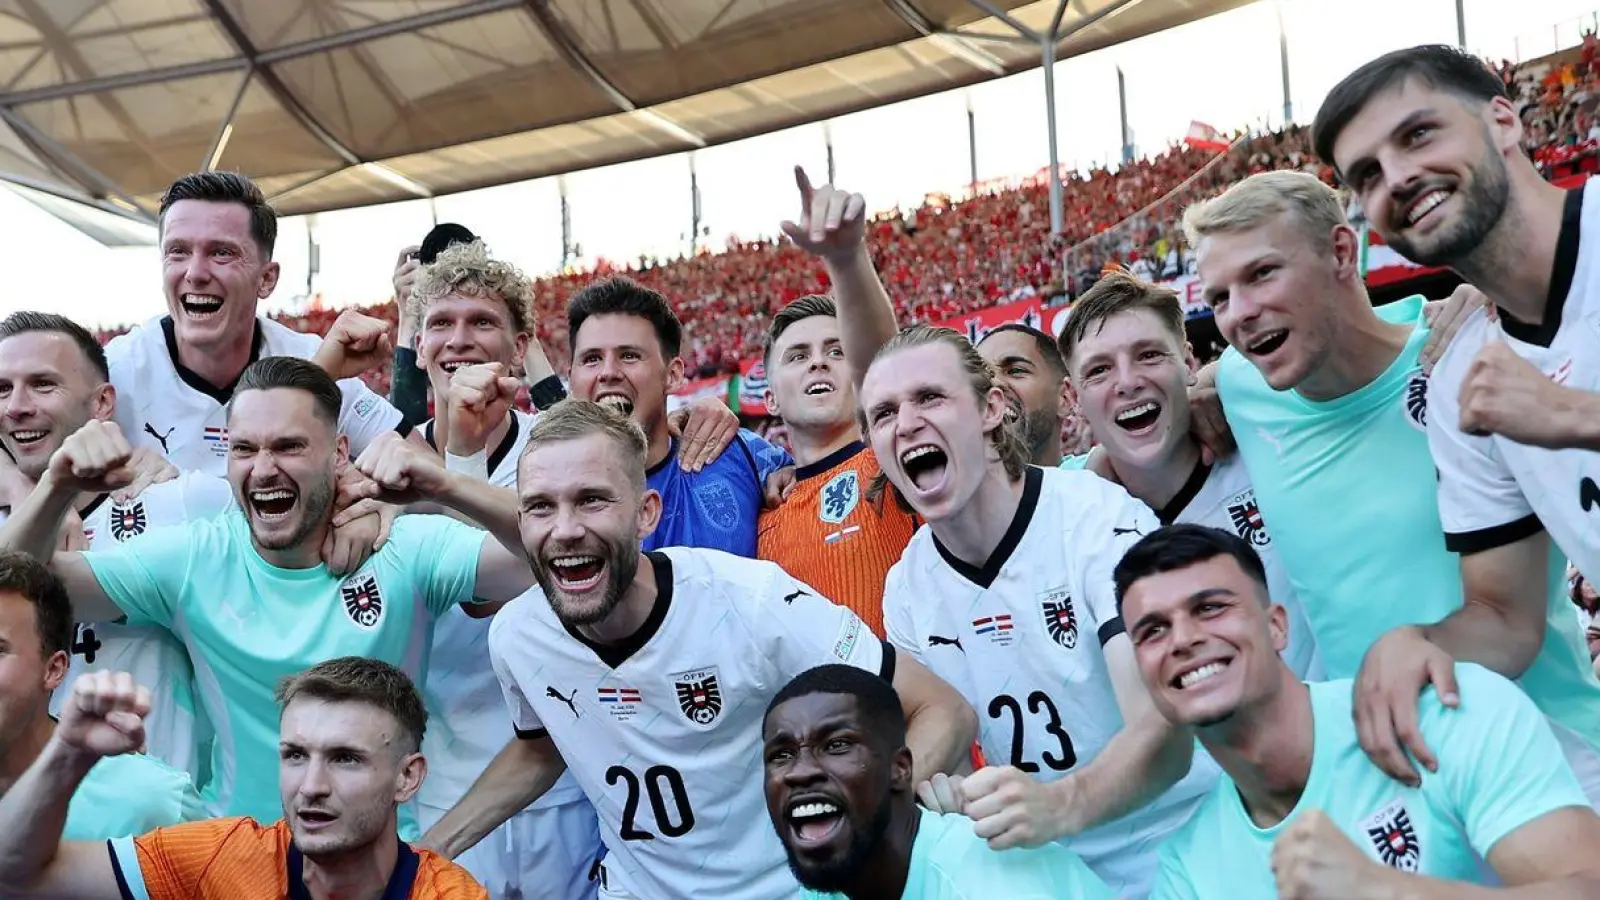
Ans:
[[[776,564],[750,565],[768,570],[766,586],[758,602],[738,604],[734,609],[786,681],[826,665],[856,666],[893,677],[893,650],[886,650],[883,641],[856,613]]]

